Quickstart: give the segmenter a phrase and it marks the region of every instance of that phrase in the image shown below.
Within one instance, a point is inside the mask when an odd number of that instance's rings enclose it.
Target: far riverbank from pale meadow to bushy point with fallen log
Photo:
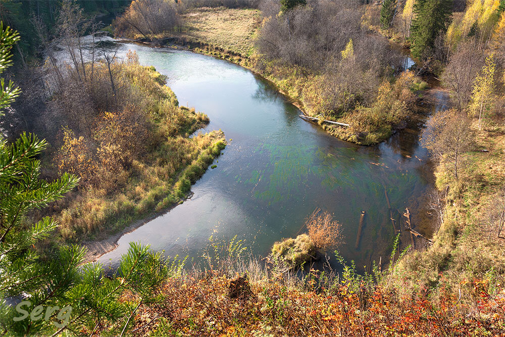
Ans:
[[[317,124],[326,132],[358,145],[375,145],[405,127],[405,123],[414,113],[413,106],[416,104],[416,98],[426,87],[426,83],[414,75],[408,80],[404,78],[398,84],[394,84],[398,82],[396,79],[393,84],[385,88],[390,97],[384,102],[376,102],[372,107],[359,107],[354,111],[347,111],[338,118],[324,116],[324,111],[320,109],[321,102],[326,100],[322,95],[324,89],[320,84],[323,81],[322,75],[302,67],[268,61],[257,53],[254,41],[261,28],[258,10],[200,8],[185,14],[183,18],[186,25],[181,33],[171,34],[168,37],[164,35],[151,38],[137,37],[153,46],[163,45],[189,50],[247,68],[273,83],[277,90],[306,116],[318,118]],[[233,34],[229,34],[229,31],[233,31]],[[398,86],[396,90],[398,92],[391,90],[395,86]],[[403,89],[411,91],[409,97],[405,96],[407,91]],[[387,111],[398,109],[393,106],[395,101],[405,103],[406,106],[400,108],[405,111],[389,114],[394,117],[375,117],[384,114],[382,110],[388,115]],[[386,105],[391,106],[383,106],[385,102]],[[383,119],[387,121],[384,122]],[[350,126],[337,126],[324,120]]]

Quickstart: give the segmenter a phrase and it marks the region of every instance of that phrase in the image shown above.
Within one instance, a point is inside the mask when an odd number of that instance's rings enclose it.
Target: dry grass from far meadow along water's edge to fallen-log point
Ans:
[[[256,52],[254,38],[261,27],[259,11],[203,8],[186,14],[184,19],[187,27],[181,36],[183,39],[179,42],[180,44],[196,53],[216,56],[258,72],[272,81],[280,92],[296,102],[296,105],[309,116],[318,116],[324,111],[320,109],[320,105],[325,99],[320,93],[325,90],[321,88],[321,80],[316,74],[299,66],[266,60]],[[414,80],[416,85],[410,91],[426,88],[426,83],[423,84],[419,78]],[[405,84],[410,85],[410,83]],[[410,93],[413,95],[412,92]],[[401,99],[394,98],[393,102],[401,102]],[[374,109],[368,109],[370,110],[368,116],[377,115],[375,106]],[[360,145],[373,145],[387,139],[398,124],[398,121],[388,120],[383,123],[384,125],[370,129],[372,124],[369,121],[370,118],[365,118],[363,123],[357,125],[355,115],[353,111],[348,111],[340,117],[327,117],[327,119],[355,124],[355,128],[342,128],[331,124],[322,124],[321,127],[340,139]],[[389,114],[389,116],[392,115],[394,114]],[[400,121],[402,120],[405,120],[405,117],[400,118]]]

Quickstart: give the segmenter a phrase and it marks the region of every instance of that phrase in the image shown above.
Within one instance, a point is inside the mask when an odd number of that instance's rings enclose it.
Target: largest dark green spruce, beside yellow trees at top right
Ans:
[[[452,0],[416,0],[411,25],[411,52],[423,58],[435,38],[445,32],[452,14]]]

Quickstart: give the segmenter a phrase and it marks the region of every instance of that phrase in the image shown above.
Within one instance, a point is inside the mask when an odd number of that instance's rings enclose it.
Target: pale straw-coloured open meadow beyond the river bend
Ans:
[[[186,34],[241,55],[250,55],[260,11],[200,8],[184,15]]]

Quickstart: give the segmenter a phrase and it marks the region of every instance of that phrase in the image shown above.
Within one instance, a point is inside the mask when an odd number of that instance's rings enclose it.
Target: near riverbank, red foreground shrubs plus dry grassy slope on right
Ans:
[[[303,280],[275,261],[269,269],[241,259],[236,247],[217,247],[210,271],[169,277],[164,301],[140,308],[148,318],[136,325],[139,335],[502,335],[505,127],[495,120],[479,130],[477,123],[469,124],[474,146],[460,178],[441,164],[435,169],[437,188],[447,194],[438,197],[444,212],[432,245],[393,253],[387,269],[364,276],[352,264],[336,279],[312,271]]]

